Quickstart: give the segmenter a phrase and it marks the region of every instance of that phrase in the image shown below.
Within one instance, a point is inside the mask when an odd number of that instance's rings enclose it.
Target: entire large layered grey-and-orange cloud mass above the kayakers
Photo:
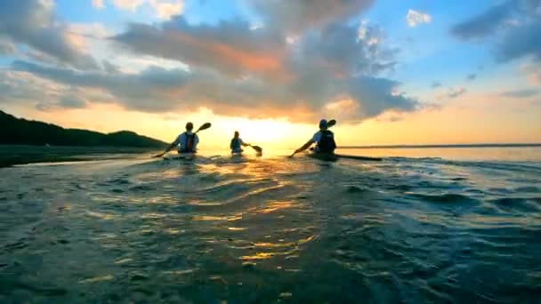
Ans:
[[[283,8],[304,4],[277,3]],[[287,26],[311,28],[296,35],[288,35],[280,23],[261,28],[241,19],[191,24],[179,15],[152,25],[133,23],[125,32],[100,39],[123,56],[126,52],[120,51],[127,50],[127,55],[135,55],[131,58],[149,61],[147,68],[119,68],[119,60],[113,59],[114,64],[108,59],[101,60],[101,69],[83,70],[44,59],[43,64],[17,60],[12,70],[61,88],[42,102],[41,108],[49,109],[106,102],[150,113],[207,108],[224,116],[297,122],[333,113],[344,122],[359,122],[388,111],[400,114],[419,108],[418,100],[399,91],[399,82],[382,76],[396,66],[400,52],[386,46],[384,30],[347,20],[352,14],[343,7],[362,9],[371,1],[334,3],[336,7],[329,9],[335,20],[317,20],[320,7],[310,8],[310,17],[301,16],[301,23]],[[272,8],[264,15],[281,14],[287,12]],[[86,35],[85,28],[71,28],[78,36]],[[97,35],[95,30],[90,34]],[[160,60],[174,64],[160,68],[152,63]]]

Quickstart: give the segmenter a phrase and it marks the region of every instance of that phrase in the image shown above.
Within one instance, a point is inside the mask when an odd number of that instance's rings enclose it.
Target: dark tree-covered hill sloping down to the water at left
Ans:
[[[164,148],[166,143],[135,132],[120,131],[109,134],[81,129],[64,129],[17,118],[0,110],[0,144],[90,147]]]

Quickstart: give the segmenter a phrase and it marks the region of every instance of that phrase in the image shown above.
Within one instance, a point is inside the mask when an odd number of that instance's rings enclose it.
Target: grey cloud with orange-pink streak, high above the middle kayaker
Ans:
[[[113,39],[136,53],[180,60],[233,76],[251,71],[278,73],[286,44],[282,36],[265,28],[251,30],[245,21],[190,26],[183,16],[160,28],[131,24]]]

